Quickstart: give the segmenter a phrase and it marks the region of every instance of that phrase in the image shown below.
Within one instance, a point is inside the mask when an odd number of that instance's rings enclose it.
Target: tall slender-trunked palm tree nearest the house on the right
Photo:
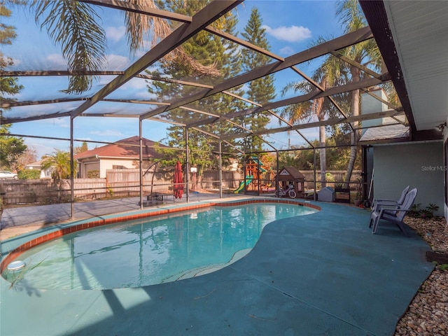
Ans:
[[[352,31],[356,31],[362,27],[367,26],[367,21],[365,20],[363,10],[360,8],[358,0],[344,0],[339,1],[336,7],[336,15],[339,17],[339,22],[344,28],[344,33],[348,34]],[[379,69],[381,66],[381,53],[379,52],[377,43],[374,39],[370,39],[356,45],[351,45],[344,50],[341,50],[342,55],[345,57],[374,69]],[[350,74],[349,80],[352,82],[358,82],[363,79],[365,73],[350,64],[346,65]],[[350,102],[350,114],[351,116],[359,116],[359,106],[360,106],[360,92],[359,90],[354,90],[351,92],[351,102]],[[353,128],[358,129],[358,122],[353,123]],[[353,167],[355,165],[357,148],[356,145],[358,138],[360,137],[359,131],[351,133],[351,148],[350,148],[350,158],[349,164],[347,165],[347,172],[345,175],[345,185],[351,179],[351,173],[353,172]]]

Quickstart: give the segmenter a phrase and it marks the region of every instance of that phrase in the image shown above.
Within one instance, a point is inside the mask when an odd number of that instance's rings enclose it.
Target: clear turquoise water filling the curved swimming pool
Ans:
[[[20,255],[25,261],[22,272],[3,275],[41,289],[128,288],[175,281],[237,260],[235,253],[253,248],[267,223],[314,212],[293,204],[255,203],[105,225],[31,248]]]

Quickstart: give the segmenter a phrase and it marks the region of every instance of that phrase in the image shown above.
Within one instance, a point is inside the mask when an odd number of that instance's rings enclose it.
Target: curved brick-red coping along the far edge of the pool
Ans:
[[[302,200],[287,200],[287,199],[272,199],[272,198],[249,198],[244,200],[228,200],[228,201],[202,201],[190,204],[170,205],[165,207],[158,207],[157,209],[144,209],[137,211],[129,211],[123,214],[110,214],[105,216],[94,216],[79,221],[70,221],[52,225],[48,228],[41,228],[32,232],[28,232],[16,237],[5,239],[1,241],[0,253],[0,274],[6,269],[10,262],[13,262],[22,253],[28,251],[52,239],[57,239],[64,235],[69,235],[73,232],[86,230],[90,228],[97,228],[103,225],[110,225],[123,221],[134,221],[143,218],[151,218],[154,216],[161,216],[167,214],[175,214],[182,211],[190,211],[195,209],[204,209],[207,207],[235,207],[244,204],[252,203],[281,203],[281,204],[297,204],[301,207],[309,207],[316,210],[321,210],[321,207],[309,201]],[[46,233],[45,233],[46,232]],[[1,276],[3,277],[3,276]]]

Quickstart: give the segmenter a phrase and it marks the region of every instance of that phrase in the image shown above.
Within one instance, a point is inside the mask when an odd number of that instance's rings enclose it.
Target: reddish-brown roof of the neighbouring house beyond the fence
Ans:
[[[156,143],[152,140],[142,138],[143,141],[143,158],[161,158],[162,155],[157,153],[153,147]],[[126,146],[126,144],[132,146]],[[165,145],[158,144],[157,146],[161,148],[169,148]],[[140,148],[139,148],[139,137],[130,137],[127,139],[119,140],[116,144],[108,144],[106,146],[101,146],[94,148],[90,151],[85,151],[83,153],[76,154],[74,158],[76,160],[82,160],[85,158],[139,158]]]

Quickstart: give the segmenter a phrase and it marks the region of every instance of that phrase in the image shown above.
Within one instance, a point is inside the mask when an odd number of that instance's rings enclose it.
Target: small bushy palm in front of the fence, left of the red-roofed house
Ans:
[[[55,149],[52,154],[44,155],[42,159],[42,169],[52,169],[51,178],[57,185],[57,200],[60,201],[62,183],[70,177],[70,153]],[[73,175],[76,175],[76,162],[73,162]]]

